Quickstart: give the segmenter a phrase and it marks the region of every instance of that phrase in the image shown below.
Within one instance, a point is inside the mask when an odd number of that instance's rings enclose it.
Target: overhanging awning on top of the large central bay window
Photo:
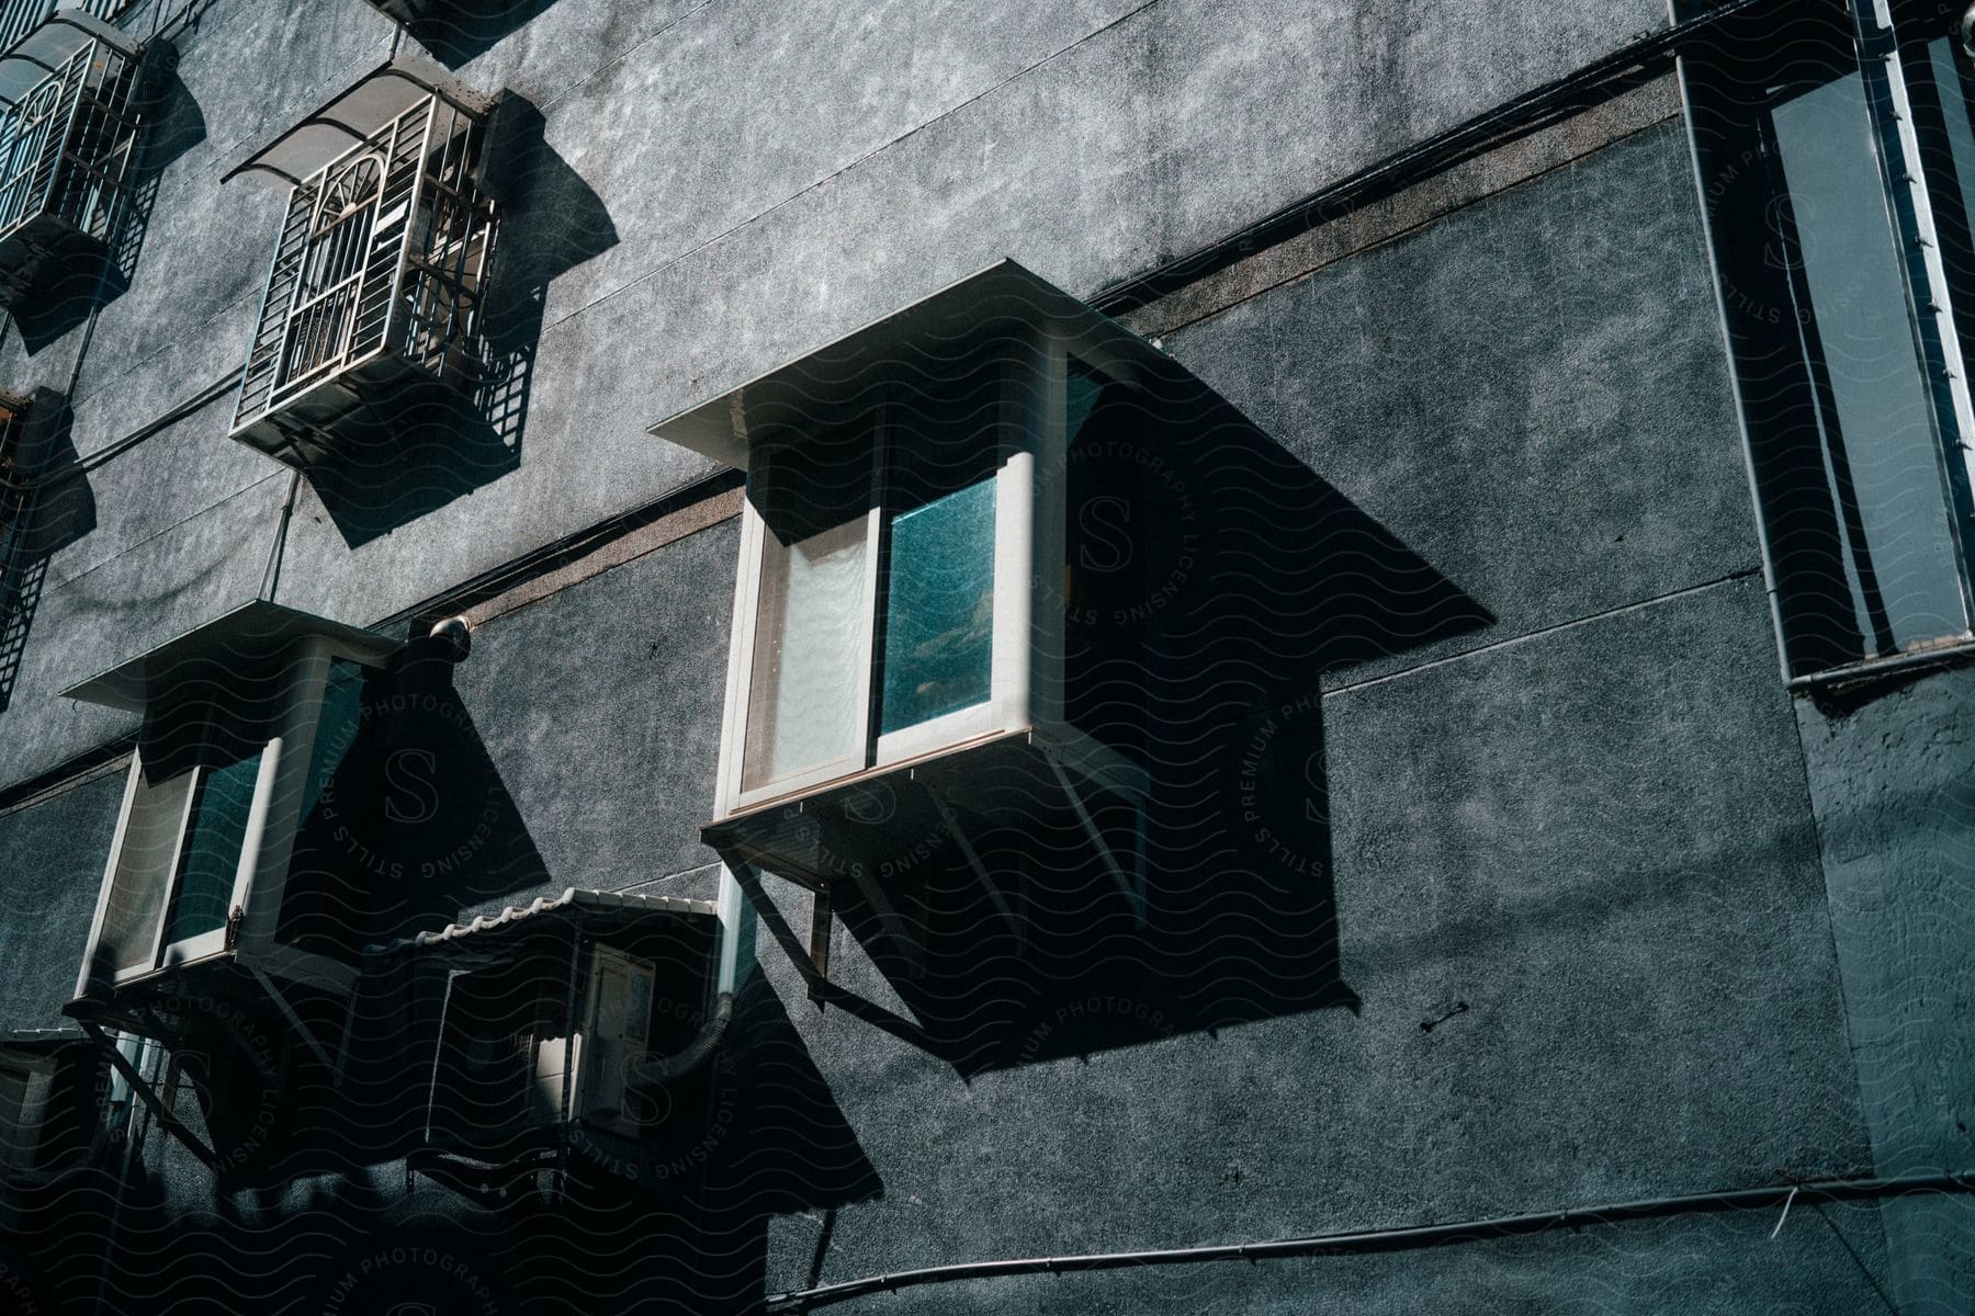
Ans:
[[[1015,260],[997,260],[711,402],[660,420],[650,432],[747,470],[758,434],[800,424],[810,412],[857,397],[891,365],[912,361],[922,371],[928,353],[944,355],[1021,326],[1055,326],[1108,369],[1185,375],[1171,357],[1102,312]]]

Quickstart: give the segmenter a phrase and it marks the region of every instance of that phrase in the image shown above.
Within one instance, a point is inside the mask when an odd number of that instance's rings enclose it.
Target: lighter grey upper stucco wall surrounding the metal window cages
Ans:
[[[304,489],[280,600],[375,621],[703,474],[644,428],[993,258],[1076,292],[1659,28],[1653,0],[1404,22],[1347,4],[606,6],[561,0],[466,61],[543,112],[514,260],[541,288],[517,464],[352,550]],[[93,333],[10,335],[10,387],[75,395],[89,454],[235,373],[280,197],[219,176],[389,53],[356,0],[217,0],[180,41],[130,288]],[[77,363],[83,337],[87,353]],[[284,472],[231,402],[89,475],[0,783],[115,734],[53,691],[251,596]]]

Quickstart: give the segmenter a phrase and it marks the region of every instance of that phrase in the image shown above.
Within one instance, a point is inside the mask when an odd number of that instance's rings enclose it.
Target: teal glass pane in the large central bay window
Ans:
[[[891,521],[879,730],[986,702],[991,679],[993,479],[984,479]]]

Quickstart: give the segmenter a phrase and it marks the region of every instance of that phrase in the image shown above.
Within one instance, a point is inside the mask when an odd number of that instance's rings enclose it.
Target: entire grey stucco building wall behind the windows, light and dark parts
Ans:
[[[541,6],[460,69],[545,116],[541,191],[514,205],[553,272],[519,462],[359,548],[304,487],[280,600],[389,616],[703,474],[644,426],[993,256],[1088,294],[1659,24],[1653,0]],[[389,26],[354,0],[219,0],[182,45],[142,260],[77,375],[85,454],[237,369],[275,199],[217,176],[383,59]],[[1965,1162],[1965,1004],[1939,990],[1967,981],[1967,764],[1943,730],[1967,681],[1793,714],[1700,241],[1683,138],[1657,128],[1167,341],[1487,616],[1394,635],[1284,714],[1321,746],[1333,831],[1276,876],[1329,874],[1329,967],[1355,1004],[1207,1000],[1246,1020],[964,1075],[818,1012],[762,937],[735,1030],[754,1067],[715,1083],[739,1131],[717,1211],[638,1237],[515,1217],[500,1245],[468,1243],[446,1233],[458,1204],[407,1196],[397,1166],[215,1211],[209,1178],[154,1138],[144,1219],[205,1239],[148,1280],[158,1300],[201,1267],[253,1277],[267,1306],[318,1298],[361,1255],[314,1233],[332,1217],[429,1225],[486,1271],[525,1271],[537,1304],[594,1310],[541,1290],[533,1259],[677,1237],[707,1292],[758,1294]],[[67,387],[79,345],[10,335],[0,369]],[[53,691],[259,586],[286,475],[227,444],[227,420],[215,402],[89,475],[95,529],[49,564],[0,783],[126,730]],[[450,677],[470,726],[450,789],[466,811],[496,801],[504,827],[446,917],[672,874],[705,892],[733,558],[725,523],[480,631]],[[0,949],[36,963],[0,996],[4,1026],[49,1022],[73,981],[117,785],[0,819]],[[1230,846],[1246,825],[1223,819]],[[806,898],[770,890],[804,927]],[[887,998],[843,923],[833,963]],[[1197,994],[1217,990],[1234,988]],[[1138,1004],[1120,988],[1063,1008]],[[1799,1209],[1772,1241],[1774,1223],[851,1310],[1856,1312],[1886,1284],[1953,1310],[1971,1282],[1955,1209]]]

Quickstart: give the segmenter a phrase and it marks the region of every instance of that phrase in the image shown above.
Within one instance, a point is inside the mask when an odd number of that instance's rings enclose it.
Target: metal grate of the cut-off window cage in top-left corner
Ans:
[[[0,97],[0,247],[77,233],[109,243],[130,172],[136,49],[97,26],[53,24],[71,49],[20,99]],[[26,258],[14,256],[4,264]]]

